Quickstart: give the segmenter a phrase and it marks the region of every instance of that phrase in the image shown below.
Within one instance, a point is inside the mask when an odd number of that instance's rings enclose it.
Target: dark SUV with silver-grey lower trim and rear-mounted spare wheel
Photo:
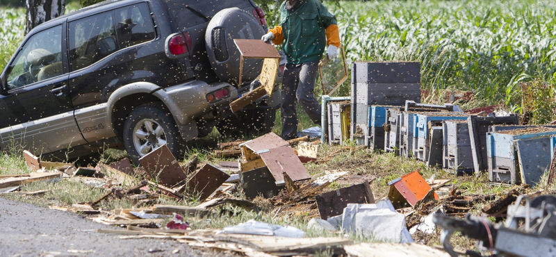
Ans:
[[[270,131],[279,93],[229,110],[262,65],[247,60],[239,80],[233,40],[265,31],[251,0],[105,1],[41,24],[0,76],[0,147],[74,158],[124,146],[137,163],[215,126]]]

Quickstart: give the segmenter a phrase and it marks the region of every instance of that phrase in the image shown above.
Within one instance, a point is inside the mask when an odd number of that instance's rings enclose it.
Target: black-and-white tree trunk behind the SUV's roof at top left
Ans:
[[[26,0],[25,34],[43,22],[64,14],[64,0]]]

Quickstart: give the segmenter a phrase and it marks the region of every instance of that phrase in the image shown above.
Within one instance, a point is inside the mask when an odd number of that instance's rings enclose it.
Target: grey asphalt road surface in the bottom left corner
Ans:
[[[173,240],[120,239],[95,232],[114,228],[0,197],[0,256],[224,256]]]

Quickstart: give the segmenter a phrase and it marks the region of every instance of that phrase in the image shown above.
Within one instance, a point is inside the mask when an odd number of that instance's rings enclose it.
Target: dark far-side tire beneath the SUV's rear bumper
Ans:
[[[244,135],[270,133],[275,119],[276,110],[245,110],[222,120],[216,128],[225,138],[242,138]]]

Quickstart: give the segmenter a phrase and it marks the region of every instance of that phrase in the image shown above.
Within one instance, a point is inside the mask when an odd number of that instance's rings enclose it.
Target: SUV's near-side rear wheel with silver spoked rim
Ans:
[[[162,103],[146,103],[131,111],[124,124],[124,145],[133,163],[166,144],[178,156],[181,136],[170,111]]]

